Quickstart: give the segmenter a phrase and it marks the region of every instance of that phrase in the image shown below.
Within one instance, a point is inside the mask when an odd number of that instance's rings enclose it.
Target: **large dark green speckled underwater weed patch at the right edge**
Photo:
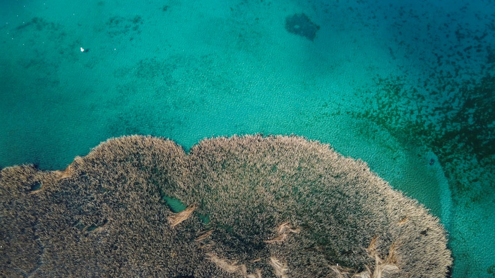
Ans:
[[[352,112],[353,117],[379,124],[401,141],[414,138],[431,148],[445,168],[453,197],[468,196],[479,202],[491,196],[492,189],[483,181],[493,180],[495,172],[493,75],[464,83],[444,80],[427,96],[407,86],[400,77],[379,78],[376,82],[376,90],[368,91],[372,108]],[[453,92],[443,93],[445,88]],[[416,109],[404,111],[401,107]],[[474,168],[487,171],[478,173]]]

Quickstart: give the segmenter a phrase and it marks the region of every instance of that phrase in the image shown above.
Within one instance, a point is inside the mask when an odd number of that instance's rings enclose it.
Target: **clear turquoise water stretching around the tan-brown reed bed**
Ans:
[[[124,134],[186,149],[303,135],[441,217],[453,277],[494,277],[494,12],[489,0],[2,1],[0,167],[63,169]],[[312,40],[286,28],[301,13]]]

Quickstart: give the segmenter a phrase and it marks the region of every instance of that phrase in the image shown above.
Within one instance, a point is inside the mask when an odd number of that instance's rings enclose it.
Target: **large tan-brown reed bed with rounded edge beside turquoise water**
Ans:
[[[109,139],[0,172],[0,276],[446,277],[446,231],[361,160],[297,136]]]

